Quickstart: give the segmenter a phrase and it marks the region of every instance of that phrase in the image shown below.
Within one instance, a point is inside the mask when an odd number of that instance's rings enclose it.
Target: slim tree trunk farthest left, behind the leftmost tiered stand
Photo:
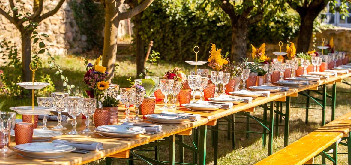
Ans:
[[[21,32],[22,40],[22,80],[32,82],[32,71],[29,69],[31,64],[31,31]]]

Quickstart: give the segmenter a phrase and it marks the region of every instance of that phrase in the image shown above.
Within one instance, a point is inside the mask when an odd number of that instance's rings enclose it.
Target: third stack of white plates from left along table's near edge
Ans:
[[[189,120],[191,117],[182,114],[147,114],[145,117],[155,123],[178,124]]]

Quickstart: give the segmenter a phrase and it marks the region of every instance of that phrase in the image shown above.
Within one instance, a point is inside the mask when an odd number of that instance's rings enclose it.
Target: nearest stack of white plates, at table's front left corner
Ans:
[[[52,159],[63,157],[65,153],[74,151],[75,147],[58,143],[33,142],[16,145],[15,149],[28,157]]]

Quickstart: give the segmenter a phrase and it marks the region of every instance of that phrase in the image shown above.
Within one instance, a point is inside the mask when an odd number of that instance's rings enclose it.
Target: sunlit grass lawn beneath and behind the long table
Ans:
[[[79,87],[82,87],[82,77],[85,74],[84,67],[84,58],[79,56],[67,56],[67,57],[56,57],[57,63],[64,69],[64,74],[69,78],[69,82],[76,86],[76,93],[81,94],[82,90]],[[93,62],[95,57],[90,58],[89,61]],[[45,61],[45,59],[43,59]],[[43,62],[45,63],[45,62]],[[135,60],[133,58],[118,58],[117,64],[119,64],[119,69],[115,73],[114,84],[120,84],[121,87],[129,86],[129,83],[125,81],[129,77],[135,78],[136,73],[136,65]],[[161,76],[168,68],[173,68],[175,66],[186,67],[187,69],[193,68],[190,65],[183,64],[182,65],[174,65],[169,64],[167,62],[161,62],[157,67],[153,66],[152,71],[155,72],[155,75]],[[64,87],[62,87],[62,81],[60,77],[54,75],[55,70],[49,70],[48,65],[44,65],[44,68],[40,68],[37,75],[48,73],[51,75],[53,79],[56,91],[63,91]],[[346,79],[351,80],[351,79]],[[328,86],[328,91],[331,91],[331,85]],[[343,92],[351,92],[350,86],[347,86],[342,83],[337,84],[337,91]],[[0,95],[1,100],[6,100],[4,106],[2,107],[2,111],[7,111],[8,107],[12,106],[23,106],[23,105],[31,105],[31,98],[19,98],[19,97],[8,97],[6,95]],[[297,103],[305,103],[305,97],[299,96],[298,98],[293,98],[292,102]],[[312,100],[311,100],[312,103]],[[330,104],[330,103],[327,103]],[[350,93],[337,93],[337,110],[336,110],[336,118],[350,111],[351,105],[351,94]],[[292,106],[304,106],[303,104],[292,104]],[[316,105],[313,107],[319,108]],[[263,111],[260,108],[257,108],[255,112],[252,113],[257,117],[262,117]],[[236,115],[236,121],[245,122],[246,119],[238,118],[239,115]],[[297,139],[305,136],[309,132],[320,127],[322,118],[322,110],[310,110],[309,112],[309,124],[305,124],[305,109],[302,108],[291,108],[290,110],[290,139],[289,143],[296,141]],[[326,120],[330,121],[331,118],[331,108],[327,107],[326,110]],[[254,122],[254,121],[251,121]],[[282,121],[284,124],[284,119]],[[226,126],[220,126],[221,129],[226,129]],[[259,125],[251,125],[251,131],[261,131],[262,127]],[[236,130],[246,130],[244,124],[236,124]],[[233,148],[231,144],[231,139],[227,138],[227,132],[220,131],[219,132],[219,144],[218,144],[218,164],[228,164],[228,165],[246,165],[246,164],[254,164],[257,161],[266,157],[267,148],[262,147],[262,138],[261,134],[250,134],[250,137],[246,138],[246,133],[236,133],[236,146]],[[185,137],[185,141],[187,144],[191,145],[190,138]],[[279,127],[279,136],[274,137],[273,141],[273,152],[276,152],[283,148],[284,141],[284,128]],[[207,147],[206,147],[206,162],[207,164],[213,164],[213,147],[211,140],[211,131],[207,131]],[[267,143],[268,144],[268,143]],[[347,152],[345,146],[339,145],[338,151],[340,153]],[[144,154],[148,157],[154,157],[153,152],[144,152],[140,151],[138,153]],[[178,146],[176,146],[176,161],[179,160],[178,154]],[[168,148],[167,146],[160,147],[160,158],[161,160],[168,159]],[[186,163],[192,162],[192,152],[185,152]],[[317,164],[321,164],[321,159],[318,157]],[[347,154],[339,154],[338,162],[340,165],[347,164]],[[330,162],[327,161],[330,164]],[[98,161],[94,161],[90,164],[105,164],[105,160],[101,159]],[[113,159],[112,164],[127,164],[126,160],[121,159]],[[135,164],[145,164],[144,162],[135,162]]]

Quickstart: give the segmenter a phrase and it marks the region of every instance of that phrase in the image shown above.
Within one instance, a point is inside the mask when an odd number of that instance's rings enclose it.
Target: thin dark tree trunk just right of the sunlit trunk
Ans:
[[[144,45],[144,41],[141,38],[141,35],[139,34],[140,31],[142,31],[142,29],[140,29],[141,27],[141,16],[143,15],[143,12],[139,13],[138,15],[135,15],[134,17],[134,28],[135,28],[135,37],[136,37],[136,48],[137,48],[137,54],[136,54],[136,58],[137,58],[137,77],[139,77],[140,73],[145,74],[144,69],[145,69],[145,45]]]

